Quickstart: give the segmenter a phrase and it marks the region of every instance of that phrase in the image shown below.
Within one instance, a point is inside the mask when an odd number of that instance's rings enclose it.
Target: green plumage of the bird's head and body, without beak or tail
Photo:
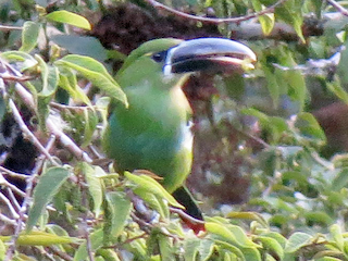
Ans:
[[[152,53],[176,46],[178,40],[157,41],[151,51],[147,45],[137,49],[117,74],[129,107],[114,108],[103,147],[116,160],[119,171],[149,170],[163,176],[163,186],[172,192],[191,167],[190,108],[179,86],[185,76],[163,77],[163,64],[151,59]]]

